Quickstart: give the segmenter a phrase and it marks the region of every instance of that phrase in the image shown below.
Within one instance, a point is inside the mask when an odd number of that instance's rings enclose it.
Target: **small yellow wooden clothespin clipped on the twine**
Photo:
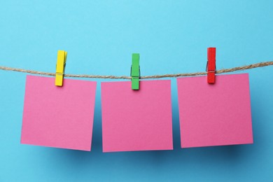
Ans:
[[[57,65],[56,65],[56,78],[55,85],[62,87],[64,80],[64,68],[66,64],[66,55],[67,52],[64,50],[58,50],[57,53]]]

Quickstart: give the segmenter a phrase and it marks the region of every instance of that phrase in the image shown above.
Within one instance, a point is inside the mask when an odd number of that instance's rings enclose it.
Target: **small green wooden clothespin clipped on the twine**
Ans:
[[[139,90],[139,54],[132,54],[132,67],[131,67],[131,77],[132,77],[132,90]]]

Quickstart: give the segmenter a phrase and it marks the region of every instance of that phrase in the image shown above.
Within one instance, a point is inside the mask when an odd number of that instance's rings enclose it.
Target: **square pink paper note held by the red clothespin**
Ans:
[[[177,78],[181,147],[253,144],[248,74]]]

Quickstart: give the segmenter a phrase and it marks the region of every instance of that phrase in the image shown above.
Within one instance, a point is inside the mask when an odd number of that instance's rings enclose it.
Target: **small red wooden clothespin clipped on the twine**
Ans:
[[[208,83],[214,84],[216,78],[216,48],[208,48],[207,72]]]

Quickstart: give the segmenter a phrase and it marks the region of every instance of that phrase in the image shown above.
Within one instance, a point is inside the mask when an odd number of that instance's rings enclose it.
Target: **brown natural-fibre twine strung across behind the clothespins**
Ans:
[[[260,62],[255,64],[249,64],[246,66],[239,66],[234,67],[231,69],[220,69],[216,71],[216,73],[229,73],[234,71],[241,71],[246,69],[254,69],[263,66],[271,66],[273,62]],[[23,73],[31,73],[37,75],[44,75],[44,76],[55,76],[56,73],[48,73],[43,71],[33,71],[28,69],[17,69],[17,68],[10,68],[6,66],[0,66],[0,69],[5,71],[18,71]],[[154,76],[141,76],[141,79],[151,79],[151,78],[173,78],[173,77],[181,77],[181,76],[201,76],[207,75],[207,72],[195,72],[195,73],[176,73],[176,74],[165,74],[165,75],[154,75]],[[131,79],[131,76],[99,76],[99,75],[75,75],[75,74],[64,74],[64,77],[73,77],[73,78],[109,78],[109,79]]]

